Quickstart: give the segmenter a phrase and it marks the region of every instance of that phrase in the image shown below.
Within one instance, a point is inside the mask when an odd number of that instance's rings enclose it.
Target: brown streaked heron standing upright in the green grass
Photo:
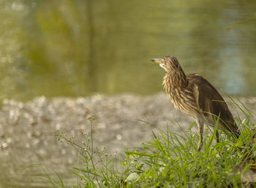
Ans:
[[[165,69],[162,85],[175,108],[195,119],[199,132],[197,151],[200,151],[203,145],[204,125],[215,127],[218,119],[218,129],[225,130],[236,138],[240,136],[241,132],[227,103],[210,82],[198,74],[186,75],[174,56],[167,55],[151,61],[159,63],[159,66]],[[216,137],[219,142],[218,130]]]

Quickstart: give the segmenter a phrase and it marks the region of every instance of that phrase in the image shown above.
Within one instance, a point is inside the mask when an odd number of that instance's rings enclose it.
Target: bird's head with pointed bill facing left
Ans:
[[[164,58],[151,59],[154,63],[159,63],[159,66],[165,69],[165,71],[175,71],[181,68],[177,58],[167,55]]]

